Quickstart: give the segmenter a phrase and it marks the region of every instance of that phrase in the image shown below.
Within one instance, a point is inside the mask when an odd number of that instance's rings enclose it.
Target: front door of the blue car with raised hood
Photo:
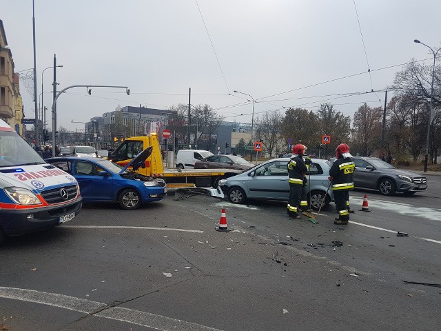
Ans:
[[[100,174],[101,172],[101,174]],[[110,176],[103,176],[99,165],[87,160],[75,161],[73,173],[80,185],[81,196],[85,201],[111,201],[113,193],[113,179]]]

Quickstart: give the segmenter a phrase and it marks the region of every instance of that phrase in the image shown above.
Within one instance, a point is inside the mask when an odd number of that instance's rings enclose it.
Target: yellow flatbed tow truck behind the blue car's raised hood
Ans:
[[[145,160],[145,167],[136,172],[145,176],[161,177],[169,188],[217,187],[220,179],[240,174],[232,169],[165,169],[161,148],[156,134],[130,137],[110,154],[109,160],[121,166],[127,165],[137,154],[152,147],[152,154]]]

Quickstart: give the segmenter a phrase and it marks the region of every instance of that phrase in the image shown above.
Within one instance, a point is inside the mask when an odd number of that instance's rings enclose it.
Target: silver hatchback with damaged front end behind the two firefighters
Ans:
[[[289,158],[272,159],[242,174],[221,179],[218,183],[218,193],[223,193],[232,203],[245,203],[247,199],[288,201],[288,162]],[[309,166],[306,190],[314,210],[320,208],[322,199],[325,199],[324,205],[334,201],[334,194],[329,188],[330,168],[331,164],[321,159],[312,159]]]

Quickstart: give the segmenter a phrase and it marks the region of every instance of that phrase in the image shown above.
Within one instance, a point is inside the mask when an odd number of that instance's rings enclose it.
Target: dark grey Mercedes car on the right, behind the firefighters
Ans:
[[[427,178],[417,172],[397,169],[377,157],[352,157],[356,163],[353,172],[355,188],[378,190],[380,194],[396,192],[414,194],[427,190]]]

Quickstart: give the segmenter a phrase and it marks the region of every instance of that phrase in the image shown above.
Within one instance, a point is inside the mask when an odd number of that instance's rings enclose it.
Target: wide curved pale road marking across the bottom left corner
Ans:
[[[151,314],[150,312],[141,312],[140,310],[109,307],[105,303],[70,297],[63,294],[0,287],[0,297],[51,305],[82,312],[84,314],[93,314],[96,317],[141,325],[160,331],[220,331],[215,328],[210,328],[209,326],[182,321],[180,319],[172,319],[170,317]]]

